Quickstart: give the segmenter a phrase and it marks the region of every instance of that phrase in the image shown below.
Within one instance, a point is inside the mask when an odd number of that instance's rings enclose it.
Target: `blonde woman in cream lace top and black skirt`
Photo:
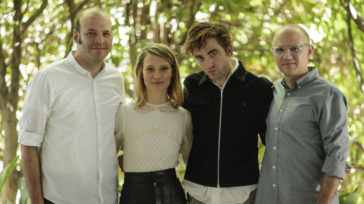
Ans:
[[[183,102],[179,65],[162,44],[142,49],[134,66],[134,102],[116,113],[115,136],[123,150],[120,204],[186,204],[175,167],[187,163],[192,123]]]

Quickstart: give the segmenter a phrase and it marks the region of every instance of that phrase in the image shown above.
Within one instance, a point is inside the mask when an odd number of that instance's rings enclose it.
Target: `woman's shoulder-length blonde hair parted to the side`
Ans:
[[[145,46],[134,65],[134,93],[135,106],[142,106],[146,102],[147,93],[144,80],[142,79],[144,59],[148,54],[155,54],[169,61],[172,68],[173,77],[168,86],[168,97],[172,106],[177,109],[183,103],[183,92],[181,86],[181,77],[179,76],[179,64],[171,48],[163,44],[149,44]]]

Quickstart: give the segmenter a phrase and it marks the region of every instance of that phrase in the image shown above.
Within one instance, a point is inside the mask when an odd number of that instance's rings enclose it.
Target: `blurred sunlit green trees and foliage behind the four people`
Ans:
[[[355,203],[364,203],[362,0],[0,0],[0,172],[20,155],[17,122],[29,80],[37,70],[75,49],[75,19],[82,9],[90,7],[110,14],[113,46],[106,61],[123,72],[129,101],[132,65],[141,48],[161,42],[178,54],[187,30],[196,22],[228,24],[233,32],[233,57],[249,72],[271,81],[282,77],[270,52],[274,33],[286,24],[303,26],[315,48],[310,65],[317,66],[320,75],[335,83],[348,99],[347,162],[353,169],[347,172],[339,191],[345,195],[359,187]],[[193,58],[178,56],[182,78],[200,70]],[[262,152],[264,146],[260,144],[260,160]],[[20,199],[20,192],[25,194],[20,163],[21,159],[1,192],[4,204],[6,199],[26,203],[24,197]],[[181,177],[183,169],[178,169]]]

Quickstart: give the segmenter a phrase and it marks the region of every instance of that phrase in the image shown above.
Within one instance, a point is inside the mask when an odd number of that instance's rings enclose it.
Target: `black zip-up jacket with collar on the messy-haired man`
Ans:
[[[223,91],[203,72],[183,83],[183,107],[193,123],[185,179],[209,187],[258,183],[258,132],[265,144],[273,84],[246,71],[241,61]]]

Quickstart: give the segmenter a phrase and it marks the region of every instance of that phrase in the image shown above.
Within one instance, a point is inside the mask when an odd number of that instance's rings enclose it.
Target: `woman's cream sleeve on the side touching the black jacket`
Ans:
[[[191,121],[191,114],[190,114],[190,111],[186,110],[185,136],[184,136],[184,139],[181,144],[182,159],[186,166],[187,166],[188,158],[190,156],[190,151],[191,151],[191,147],[192,147],[192,140],[193,140],[192,130],[193,130],[193,125],[192,125],[192,121]]]

